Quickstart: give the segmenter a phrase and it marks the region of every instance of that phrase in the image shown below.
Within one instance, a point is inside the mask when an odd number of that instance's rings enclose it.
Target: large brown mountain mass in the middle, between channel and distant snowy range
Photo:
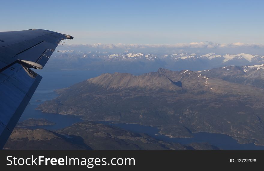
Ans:
[[[158,126],[170,137],[205,131],[264,145],[263,69],[259,64],[203,71],[159,68],[142,75],[104,73],[56,90],[59,96],[37,109],[90,121]]]

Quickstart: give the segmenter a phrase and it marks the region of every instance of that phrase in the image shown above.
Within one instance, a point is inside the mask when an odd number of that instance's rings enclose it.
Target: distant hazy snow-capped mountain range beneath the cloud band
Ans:
[[[140,52],[111,53],[111,52],[81,52],[62,50],[55,52],[50,58],[49,68],[84,70],[111,70],[122,72],[150,72],[160,67],[170,70],[206,70],[229,65],[254,66],[262,65],[264,57],[253,54],[216,53],[172,53],[144,54]]]

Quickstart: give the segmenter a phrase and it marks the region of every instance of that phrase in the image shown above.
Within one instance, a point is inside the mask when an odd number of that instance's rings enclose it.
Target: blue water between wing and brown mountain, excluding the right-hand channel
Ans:
[[[76,122],[83,122],[79,116],[73,115],[59,115],[54,113],[42,113],[40,110],[35,110],[35,108],[43,103],[43,101],[51,100],[58,96],[53,90],[59,88],[69,87],[77,82],[81,82],[85,79],[89,79],[95,76],[99,76],[101,73],[93,73],[88,71],[43,71],[35,70],[43,78],[36,89],[34,95],[32,96],[28,106],[23,112],[19,122],[29,119],[29,118],[45,118],[51,122],[56,123],[56,125],[45,125],[45,126],[35,126],[30,128],[45,128],[50,130],[61,129],[70,126]],[[38,100],[38,101],[37,101]]]

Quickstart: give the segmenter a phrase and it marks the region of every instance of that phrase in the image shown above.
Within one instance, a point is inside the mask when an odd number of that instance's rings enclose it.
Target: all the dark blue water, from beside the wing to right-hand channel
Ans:
[[[43,79],[41,80],[40,85],[38,86],[35,94],[33,95],[30,104],[26,107],[26,110],[20,118],[20,122],[29,118],[45,118],[51,122],[56,123],[56,125],[44,125],[44,126],[35,126],[30,128],[45,128],[50,130],[56,130],[70,126],[76,122],[83,122],[79,116],[73,115],[59,115],[53,113],[42,113],[35,108],[43,103],[42,101],[51,100],[57,95],[53,92],[54,89],[66,88],[70,85],[73,85],[77,82],[89,79],[95,76],[100,75],[101,73],[93,73],[88,71],[41,71],[37,70]],[[40,100],[40,101],[36,101]],[[190,143],[209,143],[211,145],[217,146],[220,149],[251,149],[251,150],[264,150],[264,146],[256,146],[254,144],[238,144],[235,139],[228,135],[224,134],[213,134],[200,132],[193,134],[193,138],[170,138],[165,135],[159,134],[157,127],[144,126],[138,124],[113,124],[111,122],[100,122],[103,124],[114,125],[119,128],[129,130],[136,133],[146,133],[151,137],[174,143],[181,144],[190,144]]]

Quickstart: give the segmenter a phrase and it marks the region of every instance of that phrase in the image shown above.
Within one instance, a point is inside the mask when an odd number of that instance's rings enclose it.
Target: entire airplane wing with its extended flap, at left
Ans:
[[[42,69],[61,40],[70,35],[41,29],[0,32],[0,149],[3,148],[42,77]]]

